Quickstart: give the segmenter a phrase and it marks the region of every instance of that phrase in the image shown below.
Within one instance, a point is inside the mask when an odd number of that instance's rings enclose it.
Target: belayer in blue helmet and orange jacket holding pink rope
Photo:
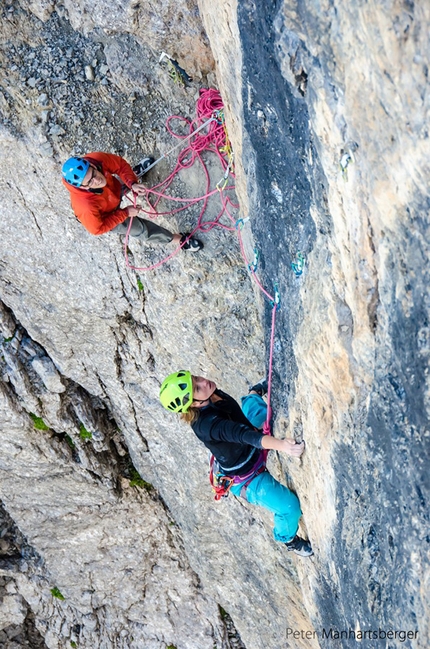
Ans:
[[[140,168],[151,164],[151,158],[141,161]],[[183,250],[197,252],[203,243],[189,233],[173,234],[153,221],[138,218],[139,206],[121,208],[124,185],[135,194],[145,194],[137,176],[128,162],[118,155],[94,152],[83,157],[69,158],[62,168],[63,185],[70,193],[70,200],[77,219],[91,234],[127,232],[130,218],[132,237],[151,243],[181,244]],[[115,176],[118,176],[116,178]]]

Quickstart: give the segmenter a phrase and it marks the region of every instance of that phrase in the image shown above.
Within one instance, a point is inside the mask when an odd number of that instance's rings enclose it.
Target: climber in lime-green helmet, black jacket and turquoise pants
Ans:
[[[301,556],[313,554],[309,541],[297,536],[301,516],[297,496],[266,469],[269,449],[300,457],[304,443],[263,434],[266,412],[264,383],[257,384],[237,401],[218,390],[213,381],[187,370],[170,374],[160,388],[160,401],[171,412],[182,413],[197,437],[213,453],[220,474],[230,479],[229,491],[274,513],[273,536]],[[249,419],[245,416],[248,415]]]

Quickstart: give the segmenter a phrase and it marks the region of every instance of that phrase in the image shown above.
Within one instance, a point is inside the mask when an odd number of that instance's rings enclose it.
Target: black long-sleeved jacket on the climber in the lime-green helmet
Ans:
[[[252,426],[237,401],[221,390],[215,394],[222,401],[201,408],[191,428],[226,473],[245,475],[257,460],[263,433]]]

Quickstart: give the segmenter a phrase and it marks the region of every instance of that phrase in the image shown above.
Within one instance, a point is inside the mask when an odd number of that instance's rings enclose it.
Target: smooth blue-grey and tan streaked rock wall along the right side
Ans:
[[[308,610],[322,646],[336,640],[324,628],[345,630],[345,647],[350,629],[382,628],[412,632],[390,646],[424,647],[430,15],[409,2],[231,10],[252,230],[283,302],[278,430],[307,443],[285,468],[318,548],[317,572],[301,570]]]

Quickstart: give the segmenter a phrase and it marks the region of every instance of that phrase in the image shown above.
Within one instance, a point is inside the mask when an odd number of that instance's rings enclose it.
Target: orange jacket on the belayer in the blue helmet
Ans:
[[[101,190],[101,194],[73,187],[64,179],[63,185],[70,192],[73,211],[82,225],[91,234],[103,234],[127,218],[127,211],[119,209],[121,183],[112,174],[119,176],[129,189],[137,182],[137,177],[128,162],[119,155],[95,152],[83,157],[99,168],[106,178],[106,186]]]

